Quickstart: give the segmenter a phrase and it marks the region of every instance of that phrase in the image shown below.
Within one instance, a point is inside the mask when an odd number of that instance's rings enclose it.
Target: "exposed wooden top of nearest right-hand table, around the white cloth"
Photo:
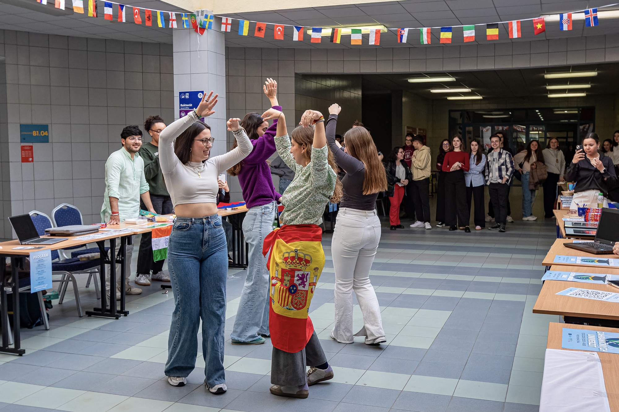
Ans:
[[[558,324],[556,322],[550,322],[550,324],[548,324],[548,342],[546,346],[548,349],[561,349],[566,351],[575,350],[561,348],[561,335],[563,335],[564,327],[569,327],[573,329],[595,329],[602,330],[603,332],[619,332],[618,329],[613,328],[597,326],[591,327],[584,325],[565,325]],[[610,410],[613,412],[619,412],[619,354],[597,352],[597,355],[600,357],[600,362],[602,363],[602,373],[604,373],[604,385],[606,387],[606,393],[608,395],[608,404],[610,405]]]

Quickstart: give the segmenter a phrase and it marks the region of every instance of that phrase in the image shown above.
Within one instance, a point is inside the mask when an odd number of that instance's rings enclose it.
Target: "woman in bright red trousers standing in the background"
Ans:
[[[404,149],[396,146],[391,150],[386,166],[387,197],[389,197],[389,225],[391,230],[404,229],[400,225],[400,204],[405,195],[405,186],[412,179],[409,166],[404,161]]]

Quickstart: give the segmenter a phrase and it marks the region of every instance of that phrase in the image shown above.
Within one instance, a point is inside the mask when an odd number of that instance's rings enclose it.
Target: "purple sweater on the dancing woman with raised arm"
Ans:
[[[282,106],[273,106],[282,110]],[[262,206],[277,201],[281,194],[275,191],[271,169],[267,159],[275,153],[275,134],[277,133],[277,119],[261,137],[251,140],[254,146],[249,156],[243,159],[238,181],[243,189],[243,199],[247,208]]]

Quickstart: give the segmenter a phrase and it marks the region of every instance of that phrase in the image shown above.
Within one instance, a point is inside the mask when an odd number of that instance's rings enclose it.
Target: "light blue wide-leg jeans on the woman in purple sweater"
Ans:
[[[247,277],[241,292],[236,319],[230,337],[249,342],[261,335],[269,335],[269,271],[262,255],[262,244],[273,231],[275,202],[250,208],[243,220],[243,234],[249,245]]]

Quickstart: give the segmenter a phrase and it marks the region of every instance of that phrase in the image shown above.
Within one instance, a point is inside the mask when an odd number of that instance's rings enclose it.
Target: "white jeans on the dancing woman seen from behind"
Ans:
[[[353,290],[363,314],[365,333],[361,335],[385,335],[378,299],[370,283],[370,268],[380,239],[381,222],[376,210],[340,209],[331,241],[335,268],[335,326],[331,334],[341,343],[353,342]]]

